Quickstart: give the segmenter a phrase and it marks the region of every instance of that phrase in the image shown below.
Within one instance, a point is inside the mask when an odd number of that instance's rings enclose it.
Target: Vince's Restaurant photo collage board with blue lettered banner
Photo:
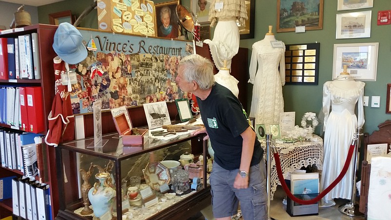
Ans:
[[[70,67],[73,114],[93,112],[99,98],[102,110],[191,98],[175,78],[179,61],[194,53],[192,41],[79,31],[92,47],[85,60]]]

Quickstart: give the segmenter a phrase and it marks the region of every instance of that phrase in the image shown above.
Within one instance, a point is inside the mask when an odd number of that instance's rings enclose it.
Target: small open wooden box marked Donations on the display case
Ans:
[[[119,136],[122,137],[123,145],[129,146],[144,144],[144,135],[148,132],[148,129],[138,129],[141,135],[133,135],[132,125],[127,122],[125,113],[114,117],[114,123]]]

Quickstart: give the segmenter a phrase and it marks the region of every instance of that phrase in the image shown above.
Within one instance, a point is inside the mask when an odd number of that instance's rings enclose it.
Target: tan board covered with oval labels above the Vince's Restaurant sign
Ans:
[[[98,0],[99,30],[156,36],[152,0]]]

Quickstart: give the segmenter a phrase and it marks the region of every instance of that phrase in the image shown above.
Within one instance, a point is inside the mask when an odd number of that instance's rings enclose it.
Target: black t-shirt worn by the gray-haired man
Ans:
[[[224,86],[215,83],[205,100],[197,97],[202,121],[210,137],[215,162],[226,170],[238,169],[242,155],[240,136],[250,125],[240,101]],[[263,157],[261,144],[255,139],[251,166]]]

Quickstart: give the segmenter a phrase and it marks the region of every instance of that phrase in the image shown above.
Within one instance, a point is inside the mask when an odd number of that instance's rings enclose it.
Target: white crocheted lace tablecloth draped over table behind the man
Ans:
[[[278,155],[280,156],[281,169],[284,176],[288,172],[293,172],[295,169],[300,169],[301,167],[307,167],[309,165],[315,164],[318,170],[322,170],[323,163],[323,140],[314,135],[314,138],[311,142],[306,141],[297,141],[294,143],[276,143]],[[263,157],[266,162],[266,140],[260,140],[262,148],[264,150]],[[272,152],[272,150],[271,150]],[[271,196],[270,199],[273,200],[274,192],[277,189],[277,184],[280,184],[277,176],[277,170],[275,168],[275,159],[272,155],[270,171],[270,184],[271,184]],[[281,185],[281,184],[280,184]]]

